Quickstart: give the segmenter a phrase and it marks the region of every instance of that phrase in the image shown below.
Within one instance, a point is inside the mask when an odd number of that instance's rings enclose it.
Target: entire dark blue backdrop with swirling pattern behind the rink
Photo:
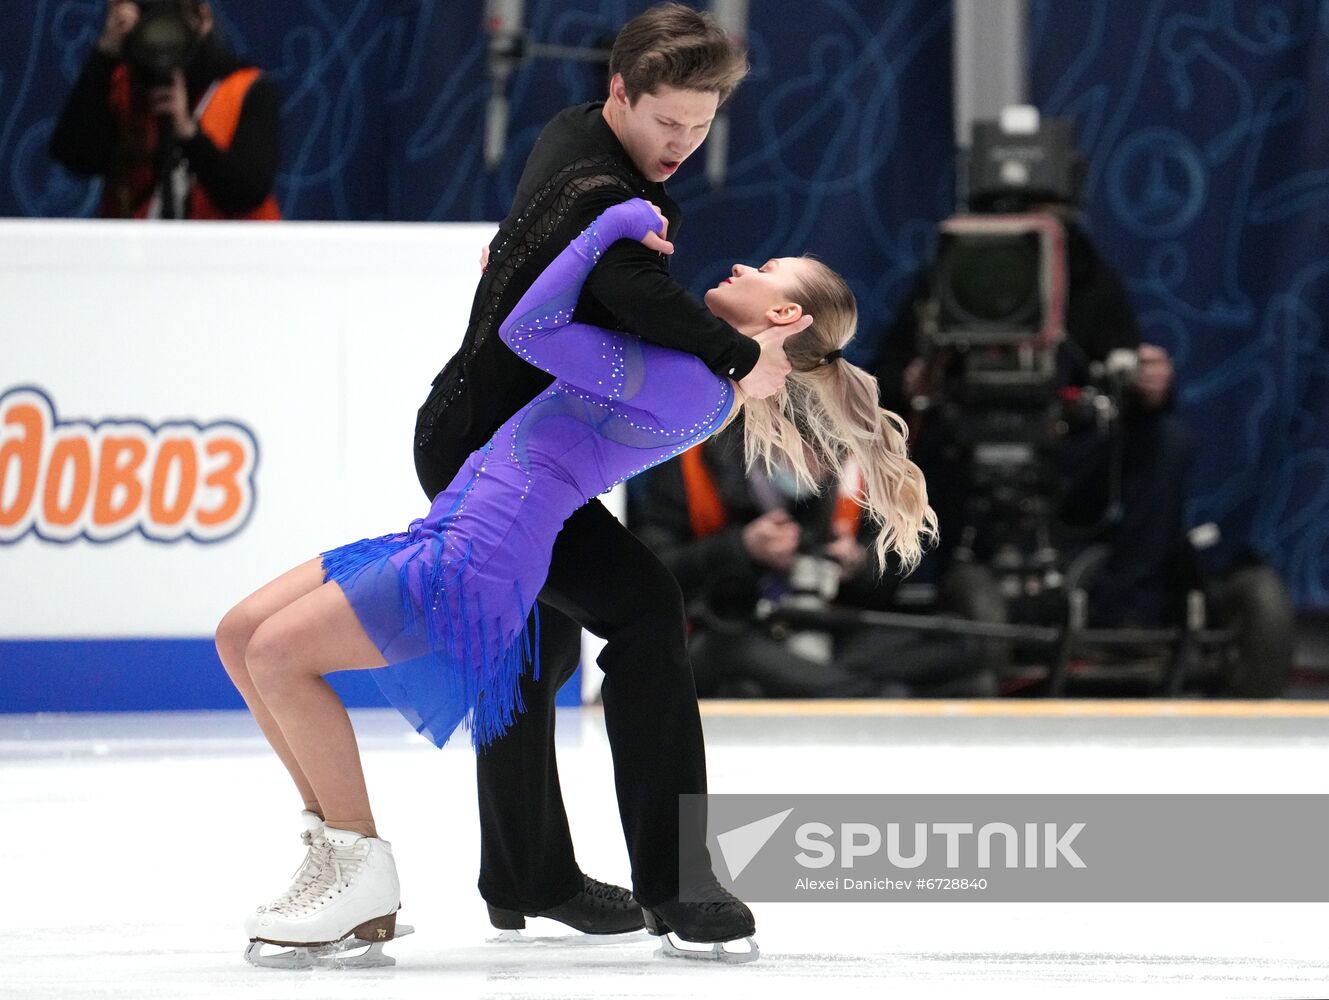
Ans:
[[[53,166],[54,116],[104,0],[9,0],[0,41],[0,214],[86,215],[93,185]],[[542,41],[595,44],[642,0],[529,0]],[[284,96],[279,197],[298,219],[494,219],[560,106],[601,73],[534,62],[512,81],[508,154],[481,164],[480,0],[215,0]],[[1316,0],[1033,0],[1033,90],[1091,157],[1090,223],[1148,339],[1177,358],[1203,431],[1192,512],[1255,543],[1302,605],[1329,605],[1329,5]],[[700,154],[675,271],[809,250],[881,323],[952,205],[950,5],[760,0],[735,96],[728,182]],[[1321,113],[1313,113],[1321,109]]]

